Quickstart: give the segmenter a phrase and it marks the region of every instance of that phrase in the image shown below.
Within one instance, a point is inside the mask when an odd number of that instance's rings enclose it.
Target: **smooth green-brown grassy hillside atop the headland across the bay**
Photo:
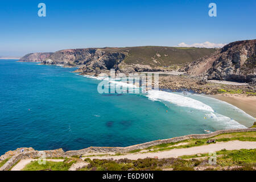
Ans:
[[[209,55],[216,49],[195,48],[195,47],[125,47],[125,48],[101,48],[106,52],[121,51],[126,54],[123,63],[143,64],[151,67],[169,67],[180,65]]]

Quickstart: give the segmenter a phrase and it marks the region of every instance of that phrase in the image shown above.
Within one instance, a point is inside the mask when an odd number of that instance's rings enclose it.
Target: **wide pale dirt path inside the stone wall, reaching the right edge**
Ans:
[[[160,151],[160,152],[148,152],[148,153],[137,153],[137,154],[127,154],[127,155],[119,155],[119,156],[93,156],[90,157],[90,159],[109,159],[113,158],[115,159],[143,159],[143,158],[154,158],[155,156],[158,157],[158,159],[162,158],[175,158],[177,156],[182,155],[196,155],[196,154],[204,154],[208,152],[214,152],[214,151],[220,151],[222,149],[226,150],[240,150],[242,148],[244,149],[252,149],[256,148],[256,142],[242,142],[238,140],[229,141],[229,142],[218,142],[214,144],[208,144],[204,146],[197,146],[197,147],[190,147],[190,148],[175,148],[173,150],[168,151]]]

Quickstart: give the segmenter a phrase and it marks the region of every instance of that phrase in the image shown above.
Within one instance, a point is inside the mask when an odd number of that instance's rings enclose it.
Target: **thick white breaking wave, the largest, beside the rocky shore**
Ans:
[[[164,92],[159,90],[149,90],[146,95],[150,100],[163,100],[176,104],[183,107],[192,107],[194,109],[207,110],[214,112],[212,107],[204,104],[203,102],[197,101],[193,98],[180,96],[179,94],[174,94],[170,92]]]

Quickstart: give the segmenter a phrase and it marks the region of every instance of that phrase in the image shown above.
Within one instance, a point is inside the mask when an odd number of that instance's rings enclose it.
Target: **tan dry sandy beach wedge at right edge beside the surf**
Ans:
[[[242,109],[247,114],[256,118],[256,97],[255,96],[245,96],[242,94],[217,94],[214,96],[209,96],[217,98],[218,100],[228,102],[239,109]]]

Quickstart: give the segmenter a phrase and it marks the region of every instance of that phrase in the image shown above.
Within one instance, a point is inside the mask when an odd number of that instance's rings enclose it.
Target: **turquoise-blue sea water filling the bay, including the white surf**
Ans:
[[[0,60],[0,155],[18,147],[124,147],[255,121],[237,107],[197,94],[100,94],[101,80],[74,70]]]

